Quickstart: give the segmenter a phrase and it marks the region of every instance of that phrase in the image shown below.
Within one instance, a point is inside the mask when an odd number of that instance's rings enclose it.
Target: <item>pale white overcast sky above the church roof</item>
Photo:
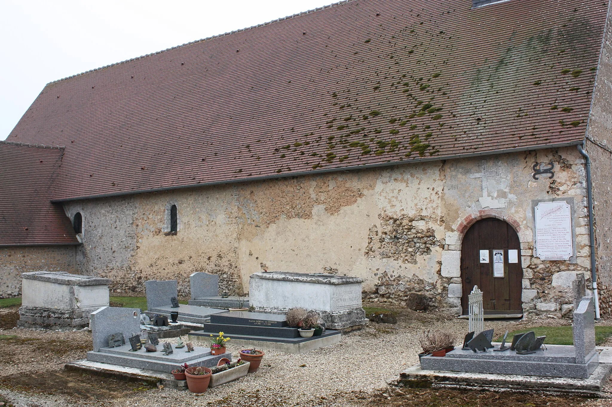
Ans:
[[[48,82],[335,0],[0,0],[0,140]]]

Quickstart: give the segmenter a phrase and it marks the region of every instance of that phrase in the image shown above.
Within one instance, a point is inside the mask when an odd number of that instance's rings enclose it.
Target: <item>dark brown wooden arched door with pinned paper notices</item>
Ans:
[[[512,226],[498,218],[474,223],[461,243],[463,314],[474,286],[483,292],[485,314],[522,314],[521,279],[521,243]]]

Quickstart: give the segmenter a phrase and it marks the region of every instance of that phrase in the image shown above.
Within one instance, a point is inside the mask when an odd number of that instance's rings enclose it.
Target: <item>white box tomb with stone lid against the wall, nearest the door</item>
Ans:
[[[323,273],[259,272],[250,276],[250,305],[257,311],[285,313],[294,307],[321,312],[327,328],[344,330],[368,322],[356,277]]]

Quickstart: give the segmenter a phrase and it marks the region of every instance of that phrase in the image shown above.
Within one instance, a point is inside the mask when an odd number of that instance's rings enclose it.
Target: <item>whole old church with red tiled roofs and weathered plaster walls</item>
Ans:
[[[269,270],[562,317],[583,274],[610,314],[611,24],[603,0],[348,0],[50,82],[0,142],[0,297]]]

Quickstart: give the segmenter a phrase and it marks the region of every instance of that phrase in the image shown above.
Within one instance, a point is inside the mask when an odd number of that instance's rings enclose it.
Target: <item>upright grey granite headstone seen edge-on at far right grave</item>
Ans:
[[[595,352],[595,306],[593,297],[583,297],[573,312],[576,363],[586,363]]]

